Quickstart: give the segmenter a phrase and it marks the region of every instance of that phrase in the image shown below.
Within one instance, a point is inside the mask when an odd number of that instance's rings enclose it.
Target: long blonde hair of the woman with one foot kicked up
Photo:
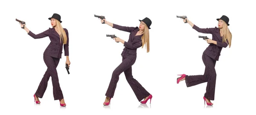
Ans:
[[[227,27],[227,23],[223,21],[223,28],[222,28],[222,42],[227,43],[228,40],[228,44],[229,44],[229,48],[231,47],[231,40],[232,40],[232,34],[230,32],[230,30]]]

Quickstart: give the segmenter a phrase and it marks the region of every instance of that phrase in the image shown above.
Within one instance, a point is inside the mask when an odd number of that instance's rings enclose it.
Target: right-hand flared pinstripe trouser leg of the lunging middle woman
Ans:
[[[131,67],[126,69],[124,73],[125,78],[131,86],[131,89],[134,91],[138,101],[141,101],[150,95],[150,93],[147,92],[146,89],[136,79],[133,78]]]

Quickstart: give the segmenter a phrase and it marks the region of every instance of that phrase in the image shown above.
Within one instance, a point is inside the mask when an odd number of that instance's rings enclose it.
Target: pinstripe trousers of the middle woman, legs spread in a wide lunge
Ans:
[[[138,101],[141,101],[150,95],[150,93],[146,91],[146,89],[136,79],[133,78],[131,66],[135,63],[135,60],[136,58],[122,58],[122,63],[117,66],[112,73],[112,78],[105,94],[106,96],[113,98],[116,84],[119,80],[119,75],[122,72],[125,73],[125,78],[131,86],[131,89],[134,91]]]

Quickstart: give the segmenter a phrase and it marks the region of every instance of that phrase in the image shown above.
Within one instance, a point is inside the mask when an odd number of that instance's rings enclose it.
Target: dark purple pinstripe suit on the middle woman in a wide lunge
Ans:
[[[135,36],[139,31],[138,27],[126,27],[113,24],[113,28],[125,32],[130,32],[130,35],[128,42],[124,43],[125,48],[123,49],[123,52],[121,54],[122,63],[119,66],[117,66],[116,69],[113,71],[112,78],[105,95],[110,98],[113,98],[116,89],[116,84],[119,80],[119,75],[122,72],[124,72],[125,78],[128,81],[129,85],[131,86],[131,89],[134,91],[138,101],[141,101],[144,98],[148,97],[150,93],[147,92],[146,89],[136,79],[133,78],[131,66],[136,61],[137,48],[140,48],[142,46],[141,37],[143,35]]]

